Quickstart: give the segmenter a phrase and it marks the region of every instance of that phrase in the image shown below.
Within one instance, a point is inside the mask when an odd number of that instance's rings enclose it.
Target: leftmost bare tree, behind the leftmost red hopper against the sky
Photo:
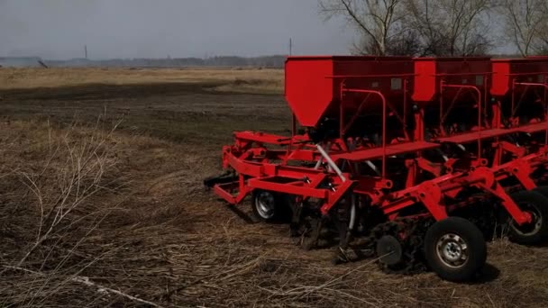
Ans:
[[[408,32],[402,26],[405,0],[319,0],[320,12],[327,17],[344,16],[347,22],[361,33],[354,44],[356,52],[378,56],[405,52],[394,48],[405,44],[402,36]]]

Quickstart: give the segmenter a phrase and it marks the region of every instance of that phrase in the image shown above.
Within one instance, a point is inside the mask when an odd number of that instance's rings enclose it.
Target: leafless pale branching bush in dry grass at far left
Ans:
[[[114,126],[115,129],[115,126]],[[25,249],[17,264],[23,265],[32,252],[61,229],[71,227],[71,214],[88,199],[107,189],[105,172],[112,171],[116,159],[108,142],[111,131],[92,131],[88,136],[73,135],[77,127],[54,139],[49,130],[50,156],[40,172],[20,171],[24,186],[32,193],[40,211],[36,240]]]

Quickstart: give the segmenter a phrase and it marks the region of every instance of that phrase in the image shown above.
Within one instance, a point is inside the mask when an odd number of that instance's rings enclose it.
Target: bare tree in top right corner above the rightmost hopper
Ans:
[[[546,0],[502,0],[507,40],[523,55],[546,49],[548,43],[548,4]]]

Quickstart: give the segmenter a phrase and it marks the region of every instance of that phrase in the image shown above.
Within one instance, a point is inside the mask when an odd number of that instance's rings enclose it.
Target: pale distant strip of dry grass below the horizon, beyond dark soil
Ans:
[[[283,70],[273,68],[2,68],[0,90],[142,84],[218,84],[220,92],[281,93]]]

